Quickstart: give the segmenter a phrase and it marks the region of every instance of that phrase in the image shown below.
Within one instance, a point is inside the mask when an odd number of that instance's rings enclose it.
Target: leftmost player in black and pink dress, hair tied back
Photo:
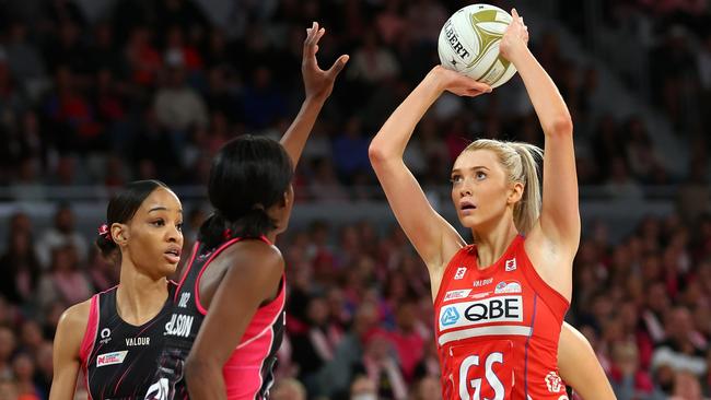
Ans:
[[[96,239],[120,259],[120,283],[65,311],[50,399],[73,399],[80,368],[90,399],[142,398],[163,349],[183,247],[180,201],[156,180],[131,183],[108,203]]]

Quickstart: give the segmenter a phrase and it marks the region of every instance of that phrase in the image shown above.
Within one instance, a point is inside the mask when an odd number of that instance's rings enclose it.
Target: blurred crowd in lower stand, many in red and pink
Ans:
[[[40,232],[15,214],[0,256],[0,388],[20,399],[48,393],[61,311],[118,280],[95,238],[75,231],[74,213],[59,205]],[[190,212],[186,248],[203,219]],[[399,228],[315,221],[278,246],[289,297],[273,399],[439,398],[429,277]],[[697,400],[711,397],[710,293],[711,215],[695,225],[649,216],[618,244],[593,223],[567,319],[593,344],[620,400]]]

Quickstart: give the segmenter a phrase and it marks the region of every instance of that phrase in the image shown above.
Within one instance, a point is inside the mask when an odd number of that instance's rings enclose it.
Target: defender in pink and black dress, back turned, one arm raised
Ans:
[[[287,228],[293,168],[338,72],[316,63],[325,31],[304,42],[306,99],[281,144],[259,137],[228,142],[210,170],[214,213],[203,223],[165,326],[165,351],[147,399],[264,399],[284,327],[284,260],[273,242]]]

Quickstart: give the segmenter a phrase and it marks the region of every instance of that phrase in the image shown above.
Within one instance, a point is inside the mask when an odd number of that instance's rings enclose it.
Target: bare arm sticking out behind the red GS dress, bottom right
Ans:
[[[560,377],[585,400],[616,399],[613,387],[587,339],[563,322],[558,342]]]

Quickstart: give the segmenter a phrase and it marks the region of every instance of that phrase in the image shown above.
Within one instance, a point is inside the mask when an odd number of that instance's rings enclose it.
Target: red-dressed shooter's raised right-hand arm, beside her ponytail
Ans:
[[[558,87],[526,45],[528,32],[523,19],[515,9],[512,15],[501,54],[518,70],[546,137],[539,226],[557,252],[572,260],[580,242],[573,123]]]

